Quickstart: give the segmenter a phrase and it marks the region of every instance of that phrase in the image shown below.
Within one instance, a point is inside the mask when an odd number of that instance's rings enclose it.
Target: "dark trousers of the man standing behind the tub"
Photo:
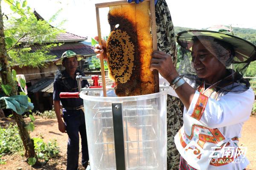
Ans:
[[[79,159],[79,133],[81,136],[82,165],[86,166],[89,160],[84,112],[63,111],[68,135],[67,143],[67,170],[77,170]]]

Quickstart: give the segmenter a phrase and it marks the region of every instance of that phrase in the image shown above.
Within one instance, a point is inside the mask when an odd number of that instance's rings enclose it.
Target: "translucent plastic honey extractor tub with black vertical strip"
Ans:
[[[86,93],[83,89],[80,97],[84,99],[90,170],[166,170],[167,91],[131,97]]]

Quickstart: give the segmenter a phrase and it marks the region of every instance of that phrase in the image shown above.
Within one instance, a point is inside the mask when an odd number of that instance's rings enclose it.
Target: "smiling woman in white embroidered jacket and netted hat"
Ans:
[[[249,119],[254,93],[242,74],[256,59],[256,46],[229,34],[201,30],[180,32],[177,42],[184,60],[191,52],[191,62],[180,65],[184,76],[162,51],[152,54],[150,69],[170,82],[185,106],[184,124],[175,136],[180,170],[245,169],[249,161],[238,148],[238,138]]]

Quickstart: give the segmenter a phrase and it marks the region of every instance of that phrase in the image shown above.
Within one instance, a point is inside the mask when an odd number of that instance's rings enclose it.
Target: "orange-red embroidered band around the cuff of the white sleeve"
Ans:
[[[191,115],[192,118],[195,118],[197,120],[201,119],[201,117],[204,113],[204,109],[206,107],[207,101],[208,101],[208,97],[205,96],[204,94],[200,93],[200,95],[198,97],[198,101],[195,104],[194,111]]]

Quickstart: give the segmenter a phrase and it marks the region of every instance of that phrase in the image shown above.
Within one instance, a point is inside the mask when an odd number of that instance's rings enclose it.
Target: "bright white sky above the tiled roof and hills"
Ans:
[[[67,20],[62,28],[82,37],[97,35],[95,3],[114,0],[27,0],[28,6],[35,9],[48,20],[62,9],[53,26]],[[233,27],[254,28],[255,0],[166,0],[174,26],[189,28],[208,28],[215,25],[232,25]],[[2,1],[2,12],[9,14],[9,8]],[[101,9],[102,36],[109,34],[107,22],[108,9]]]

